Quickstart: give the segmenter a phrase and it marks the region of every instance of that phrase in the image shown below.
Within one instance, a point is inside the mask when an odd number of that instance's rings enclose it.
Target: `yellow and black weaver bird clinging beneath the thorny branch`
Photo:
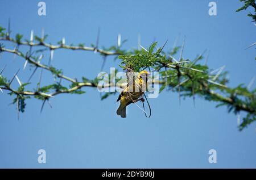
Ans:
[[[128,106],[131,103],[135,103],[139,100],[142,100],[142,97],[144,91],[146,91],[146,82],[145,77],[147,77],[149,73],[146,70],[143,70],[142,72],[138,73],[138,76],[133,79],[132,77],[132,85],[130,85],[130,78],[129,77],[129,83],[127,87],[119,94],[119,97],[117,99],[117,102],[120,100],[120,106],[117,109],[117,115],[120,115],[122,118],[126,118],[126,106]]]

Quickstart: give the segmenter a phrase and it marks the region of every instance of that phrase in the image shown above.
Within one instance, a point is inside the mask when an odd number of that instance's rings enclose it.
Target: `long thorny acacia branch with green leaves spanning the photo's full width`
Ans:
[[[82,51],[93,51],[99,52],[100,55],[106,57],[108,55],[121,55],[119,59],[121,59],[121,68],[126,70],[127,72],[139,72],[143,69],[152,69],[152,72],[159,72],[161,85],[161,91],[163,89],[169,89],[172,91],[176,91],[179,93],[179,97],[191,97],[193,96],[193,100],[195,101],[195,95],[199,97],[204,97],[208,101],[215,101],[221,103],[221,105],[226,105],[229,108],[229,111],[233,111],[237,114],[239,111],[247,112],[247,119],[241,124],[242,128],[246,127],[247,124],[250,124],[255,119],[255,90],[249,91],[243,86],[238,86],[236,88],[230,88],[226,86],[226,82],[228,80],[225,78],[225,73],[222,70],[218,71],[217,74],[211,74],[207,65],[199,64],[199,60],[203,58],[201,54],[195,60],[185,60],[182,57],[184,43],[182,45],[181,53],[179,56],[179,61],[177,61],[173,56],[177,53],[179,48],[175,47],[171,52],[162,52],[163,47],[159,48],[155,52],[156,43],[153,43],[148,49],[143,48],[141,50],[135,49],[134,51],[121,51],[118,48],[114,48],[114,46],[106,49],[98,49],[98,43],[96,47],[85,47],[84,45],[73,46],[73,45],[65,45],[64,43],[60,45],[51,45],[45,43],[45,38],[36,40],[39,43],[33,43],[32,41],[22,41],[22,36],[16,35],[16,39],[10,37],[10,33],[1,34],[0,28],[0,41],[10,41],[11,43],[16,44],[15,49],[5,48],[3,44],[0,44],[0,53],[13,53],[19,57],[22,57],[23,60],[35,66],[36,69],[44,69],[48,72],[51,72],[55,77],[60,79],[59,83],[53,83],[52,85],[37,87],[35,90],[29,91],[25,90],[25,84],[20,84],[18,90],[14,90],[10,87],[11,81],[7,82],[7,79],[1,76],[0,72],[0,90],[10,91],[10,95],[16,95],[14,99],[14,103],[17,103],[18,111],[24,111],[25,103],[24,100],[26,98],[34,97],[40,100],[43,100],[43,105],[46,100],[49,100],[52,97],[55,97],[59,94],[82,94],[84,91],[81,89],[83,87],[97,87],[98,81],[97,79],[89,80],[82,77],[82,81],[77,81],[77,78],[70,78],[63,75],[63,72],[57,70],[53,66],[44,65],[40,63],[38,57],[32,56],[32,47],[45,47],[49,51],[53,51],[56,49],[72,49],[72,50],[82,50]],[[98,40],[97,40],[98,41]],[[30,47],[30,51],[24,55],[24,53],[19,51],[19,45],[26,45]],[[114,50],[114,51],[113,51]],[[52,55],[50,56],[50,60]],[[105,60],[104,60],[105,62]],[[34,70],[34,72],[35,72]],[[150,70],[151,71],[151,70]],[[34,74],[32,73],[32,75]],[[15,74],[16,77],[16,74]],[[17,77],[18,78],[18,77]],[[61,85],[61,79],[65,79],[71,83],[69,87],[65,87]],[[164,79],[164,81],[163,81]],[[153,81],[154,82],[154,81]],[[19,82],[20,83],[20,82]],[[40,81],[39,83],[40,84]],[[113,82],[109,82],[104,85],[105,87],[114,87],[116,86]],[[181,94],[180,94],[181,93]],[[114,94],[114,92],[106,93],[105,97],[108,95]],[[43,106],[42,106],[43,108]]]

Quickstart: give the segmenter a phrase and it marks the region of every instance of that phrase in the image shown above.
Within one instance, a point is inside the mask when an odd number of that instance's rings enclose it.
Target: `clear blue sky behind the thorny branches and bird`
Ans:
[[[127,39],[125,48],[137,47],[137,36],[148,47],[156,39],[166,49],[177,36],[186,36],[184,57],[193,59],[204,49],[210,51],[212,69],[226,65],[229,86],[248,84],[255,76],[255,26],[247,12],[235,12],[239,1],[215,1],[217,16],[208,15],[210,1],[44,1],[47,15],[38,16],[39,1],[0,1],[0,26],[11,19],[11,35],[30,31],[56,44],[65,37],[67,44],[96,42],[101,28],[100,46],[116,44],[118,33]],[[181,39],[179,41],[181,44]],[[9,45],[13,47],[13,45]],[[24,48],[23,48],[24,49]],[[48,62],[48,54],[43,61]],[[53,65],[70,77],[94,78],[102,58],[92,52],[56,51]],[[22,68],[22,58],[3,53],[0,68],[7,64],[6,77]],[[108,57],[104,70],[117,66]],[[31,70],[19,73],[26,82]],[[39,72],[33,77],[39,78]],[[52,83],[49,73],[43,83]],[[14,87],[18,83],[14,82]],[[253,86],[255,88],[255,85]],[[242,132],[237,117],[226,107],[196,98],[179,106],[177,94],[164,91],[150,99],[152,116],[144,117],[131,105],[126,119],[115,111],[117,96],[100,100],[97,89],[85,88],[83,95],[59,95],[40,114],[42,102],[27,101],[24,114],[17,119],[13,97],[0,93],[1,168],[256,168],[255,123]],[[243,117],[245,114],[241,114]],[[39,164],[38,150],[45,149],[47,163]],[[209,164],[209,149],[217,150],[217,164]]]

